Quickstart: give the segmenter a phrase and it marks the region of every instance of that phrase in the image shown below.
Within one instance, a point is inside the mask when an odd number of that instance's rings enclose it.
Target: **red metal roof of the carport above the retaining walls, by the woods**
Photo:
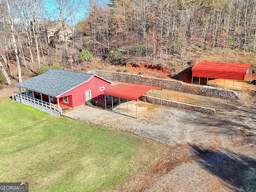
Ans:
[[[199,62],[192,67],[192,76],[231,80],[244,80],[250,63]]]

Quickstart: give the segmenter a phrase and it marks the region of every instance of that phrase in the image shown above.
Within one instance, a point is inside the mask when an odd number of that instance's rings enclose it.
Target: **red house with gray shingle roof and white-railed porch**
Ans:
[[[86,104],[93,98],[104,98],[110,81],[95,74],[51,68],[44,74],[16,84],[20,92],[12,98],[39,110],[62,115],[62,112]],[[21,92],[25,89],[25,92]]]

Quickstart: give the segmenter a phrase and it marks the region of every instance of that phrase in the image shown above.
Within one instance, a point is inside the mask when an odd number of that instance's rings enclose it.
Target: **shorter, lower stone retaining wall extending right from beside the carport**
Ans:
[[[140,96],[139,100],[145,101],[145,96],[144,95]],[[153,103],[153,98],[150,96],[146,96],[146,102]],[[161,99],[154,98],[154,104],[161,105]],[[170,108],[178,108],[181,110],[189,110],[189,111],[195,111],[195,112],[211,114],[211,115],[215,114],[215,109],[186,104],[186,103],[180,103],[180,102],[175,102],[175,101],[170,101],[170,100],[162,99],[162,105],[166,106],[166,107],[170,107]]]

